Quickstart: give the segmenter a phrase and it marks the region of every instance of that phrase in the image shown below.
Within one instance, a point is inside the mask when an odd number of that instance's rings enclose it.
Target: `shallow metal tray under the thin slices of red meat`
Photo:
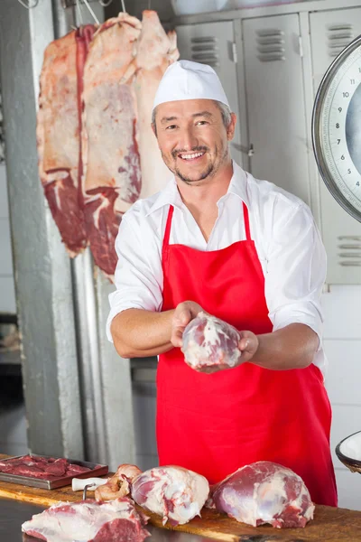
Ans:
[[[37,454],[35,453],[32,453],[32,455],[37,456]],[[6,463],[10,461],[11,459],[20,459],[22,457],[23,455],[16,455],[13,457],[8,457],[4,459],[3,461]],[[46,456],[42,455],[40,457],[46,457]],[[67,459],[67,461],[69,463],[80,465],[81,467],[88,467],[88,469],[91,469],[91,471],[88,471],[88,472],[79,472],[76,475],[77,478],[90,478],[93,476],[103,476],[104,474],[107,474],[108,472],[107,465],[101,465],[98,463],[89,463],[86,461],[78,461],[77,459]],[[7,472],[0,472],[1,481],[9,481],[12,483],[18,483],[20,485],[30,486],[32,488],[42,488],[43,490],[55,490],[57,488],[62,488],[66,485],[69,485],[73,478],[75,478],[75,476],[63,476],[61,478],[55,478],[53,480],[41,480],[39,478],[32,478],[32,476],[20,476],[19,474],[10,474]]]

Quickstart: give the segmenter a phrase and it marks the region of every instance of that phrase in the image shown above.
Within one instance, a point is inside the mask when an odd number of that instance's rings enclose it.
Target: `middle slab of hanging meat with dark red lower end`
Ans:
[[[115,240],[122,214],[141,192],[134,77],[135,44],[142,24],[119,14],[90,43],[83,90],[85,222],[97,266],[116,269]]]

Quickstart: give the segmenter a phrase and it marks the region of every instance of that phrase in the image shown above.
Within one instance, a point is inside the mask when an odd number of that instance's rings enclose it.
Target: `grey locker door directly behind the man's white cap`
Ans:
[[[233,22],[186,24],[176,28],[180,59],[209,64],[218,74],[229,105],[239,119],[236,46]],[[236,163],[242,165],[239,125],[231,143]]]

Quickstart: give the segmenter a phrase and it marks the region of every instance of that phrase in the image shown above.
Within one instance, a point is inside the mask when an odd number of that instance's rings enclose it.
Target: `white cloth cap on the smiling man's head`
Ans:
[[[153,109],[164,102],[180,99],[215,99],[229,107],[216,71],[199,62],[176,61],[164,71]]]

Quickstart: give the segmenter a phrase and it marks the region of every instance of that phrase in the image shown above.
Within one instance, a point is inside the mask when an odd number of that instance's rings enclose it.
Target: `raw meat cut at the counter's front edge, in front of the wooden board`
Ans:
[[[22,530],[48,542],[143,542],[150,536],[147,520],[129,499],[82,500],[54,504],[25,521]]]

